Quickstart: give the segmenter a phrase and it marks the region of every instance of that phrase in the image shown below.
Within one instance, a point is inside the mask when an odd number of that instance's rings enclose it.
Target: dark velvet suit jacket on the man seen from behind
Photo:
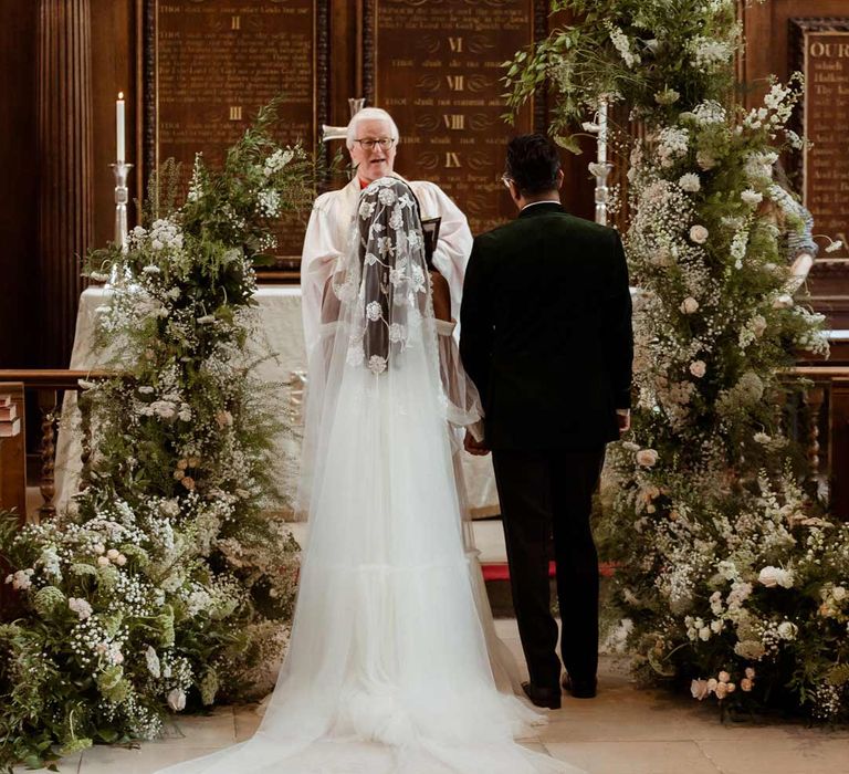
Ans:
[[[476,237],[460,323],[490,448],[580,451],[619,437],[633,344],[614,229],[544,202]]]

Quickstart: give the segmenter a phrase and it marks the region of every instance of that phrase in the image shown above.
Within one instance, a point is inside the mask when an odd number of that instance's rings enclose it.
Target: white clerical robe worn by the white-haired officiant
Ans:
[[[427,180],[411,180],[408,185],[419,200],[422,220],[442,219],[433,265],[448,280],[451,315],[457,320],[460,316],[465,264],[472,251],[472,232],[465,216],[439,186]],[[307,356],[318,337],[324,286],[333,273],[336,259],[347,249],[359,194],[359,179],[355,177],[345,188],[322,194],[313,205],[301,259],[301,307]]]

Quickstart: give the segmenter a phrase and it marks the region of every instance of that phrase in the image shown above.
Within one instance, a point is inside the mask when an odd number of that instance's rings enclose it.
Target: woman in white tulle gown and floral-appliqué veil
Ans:
[[[495,688],[448,425],[480,409],[439,279],[410,189],[369,185],[310,367],[310,538],[277,686],[251,740],[160,774],[577,772],[513,741],[539,715]]]

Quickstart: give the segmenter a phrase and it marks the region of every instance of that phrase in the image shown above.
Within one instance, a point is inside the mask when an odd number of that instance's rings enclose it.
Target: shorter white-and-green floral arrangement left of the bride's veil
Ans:
[[[285,646],[300,550],[268,509],[286,494],[273,439],[294,430],[253,372],[253,261],[315,170],[273,121],[272,105],[222,169],[198,159],[179,207],[167,165],[126,253],[90,257],[113,278],[98,335],[120,376],[83,385],[94,441],[67,512],[0,536],[20,608],[0,626],[7,770],[261,691]]]

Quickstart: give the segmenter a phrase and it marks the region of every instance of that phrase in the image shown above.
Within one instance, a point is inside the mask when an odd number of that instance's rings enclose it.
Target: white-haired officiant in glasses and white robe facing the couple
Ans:
[[[394,172],[399,139],[398,127],[386,111],[366,107],[356,113],[348,124],[346,137],[356,170],[354,178],[340,190],[323,194],[313,205],[301,261],[302,311],[307,355],[317,341],[322,294],[336,259],[348,243],[360,191],[381,177],[400,177]],[[441,219],[433,265],[448,280],[451,312],[457,320],[465,264],[472,249],[469,223],[460,208],[436,184],[410,180],[408,185],[419,200],[421,219]]]

